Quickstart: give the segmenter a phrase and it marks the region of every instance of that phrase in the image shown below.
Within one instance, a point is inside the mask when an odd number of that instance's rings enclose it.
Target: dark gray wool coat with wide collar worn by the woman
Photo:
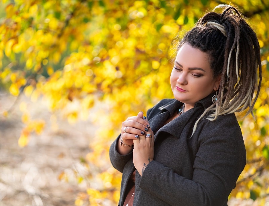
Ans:
[[[246,164],[242,132],[234,114],[215,121],[202,119],[191,137],[195,121],[212,104],[210,96],[163,125],[181,107],[175,99],[163,99],[147,112],[154,132],[154,160],[141,177],[136,171],[134,205],[227,206],[231,190]],[[123,173],[120,201],[129,192],[128,180],[135,170],[132,152],[120,155],[111,144],[112,165]]]

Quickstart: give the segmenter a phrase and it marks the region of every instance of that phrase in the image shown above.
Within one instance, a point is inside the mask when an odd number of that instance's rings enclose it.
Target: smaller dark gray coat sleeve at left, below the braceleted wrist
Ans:
[[[118,153],[117,142],[120,136],[121,134],[111,144],[110,149],[109,149],[109,157],[110,157],[110,161],[113,167],[122,173],[125,164],[133,157],[133,152],[127,155],[121,155],[120,153]]]

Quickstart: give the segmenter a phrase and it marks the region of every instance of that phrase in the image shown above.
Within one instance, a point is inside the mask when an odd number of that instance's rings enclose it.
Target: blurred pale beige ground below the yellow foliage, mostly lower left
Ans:
[[[59,128],[51,130],[50,116],[45,103],[33,103],[25,97],[17,102],[12,114],[2,113],[16,98],[0,93],[0,206],[71,206],[77,194],[85,192],[86,182],[77,183],[73,170],[84,176],[87,171],[80,163],[89,152],[88,144],[95,127],[90,120],[74,125],[59,119]],[[46,121],[45,131],[33,135],[27,147],[18,146],[24,127],[21,122],[20,102],[31,108],[32,118]],[[68,182],[59,175],[68,174]],[[229,206],[259,206],[253,200],[231,199]],[[269,206],[266,203],[266,206]]]

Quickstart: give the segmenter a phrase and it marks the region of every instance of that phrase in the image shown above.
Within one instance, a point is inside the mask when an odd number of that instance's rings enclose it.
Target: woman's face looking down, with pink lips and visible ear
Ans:
[[[175,99],[190,109],[195,102],[218,90],[220,77],[213,77],[207,53],[185,43],[178,50],[170,83]]]

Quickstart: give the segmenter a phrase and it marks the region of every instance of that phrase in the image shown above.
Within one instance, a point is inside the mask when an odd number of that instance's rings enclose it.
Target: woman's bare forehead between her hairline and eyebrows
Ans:
[[[209,55],[186,43],[178,50],[175,61],[183,67],[201,67],[204,70],[210,69]]]

